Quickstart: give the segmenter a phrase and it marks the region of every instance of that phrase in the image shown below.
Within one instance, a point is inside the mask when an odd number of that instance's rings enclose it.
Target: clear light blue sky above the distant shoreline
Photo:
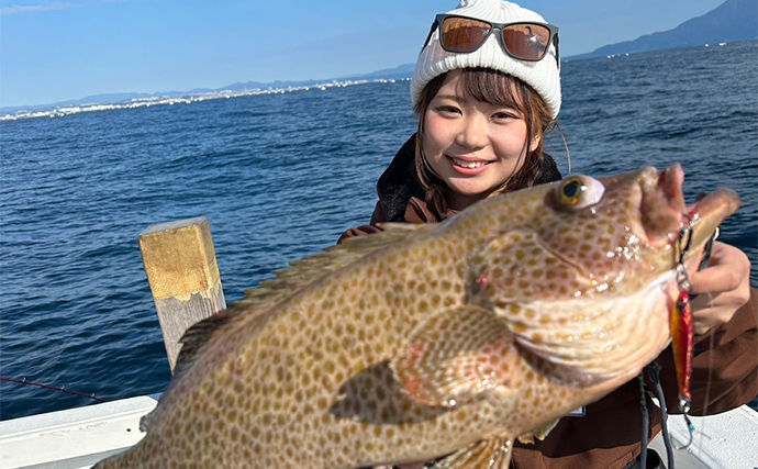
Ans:
[[[673,29],[723,0],[522,0],[568,57]],[[0,0],[0,107],[239,81],[345,77],[415,62],[456,0]]]

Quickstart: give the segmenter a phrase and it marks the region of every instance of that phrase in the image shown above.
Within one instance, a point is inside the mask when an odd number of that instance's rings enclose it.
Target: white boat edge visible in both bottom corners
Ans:
[[[137,443],[140,418],[157,397],[137,397],[86,407],[0,422],[0,469],[85,469]],[[692,417],[693,444],[675,450],[677,469],[758,467],[758,412],[743,405],[707,417]],[[681,416],[669,418],[672,443],[689,438]],[[662,458],[660,435],[651,443]]]

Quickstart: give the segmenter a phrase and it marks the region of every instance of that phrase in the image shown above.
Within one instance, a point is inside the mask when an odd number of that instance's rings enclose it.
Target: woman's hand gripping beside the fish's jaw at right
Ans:
[[[695,334],[727,323],[750,299],[750,261],[734,246],[715,242],[707,268],[690,277]]]

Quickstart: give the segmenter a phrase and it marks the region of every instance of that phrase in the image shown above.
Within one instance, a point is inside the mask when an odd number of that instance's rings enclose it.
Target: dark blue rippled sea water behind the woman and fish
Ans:
[[[562,65],[573,172],[680,161],[689,202],[743,199],[721,239],[758,284],[758,42]],[[0,376],[114,400],[170,371],[137,236],[208,217],[227,302],[368,222],[414,132],[410,81],[0,122]],[[564,174],[558,133],[547,139]],[[0,382],[0,418],[88,405]]]

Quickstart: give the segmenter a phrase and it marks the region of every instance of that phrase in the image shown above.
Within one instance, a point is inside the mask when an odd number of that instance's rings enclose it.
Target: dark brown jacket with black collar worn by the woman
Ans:
[[[414,142],[411,137],[400,148],[392,164],[379,179],[379,202],[369,225],[348,230],[341,237],[380,231],[377,223],[439,222],[424,203],[413,166]],[[560,179],[553,158],[546,155],[543,178],[538,183]],[[448,213],[444,217],[453,215]],[[750,301],[732,320],[712,334],[695,337],[691,379],[692,415],[703,415],[707,395],[707,413],[716,414],[756,398],[758,393],[758,294],[750,290]],[[711,346],[712,345],[712,346]],[[671,348],[658,357],[660,379],[672,413],[678,402],[678,388]],[[660,432],[660,412],[647,398],[650,437]],[[637,380],[588,405],[582,417],[567,416],[545,440],[516,443],[512,467],[516,469],[622,469],[640,451],[643,414]]]

